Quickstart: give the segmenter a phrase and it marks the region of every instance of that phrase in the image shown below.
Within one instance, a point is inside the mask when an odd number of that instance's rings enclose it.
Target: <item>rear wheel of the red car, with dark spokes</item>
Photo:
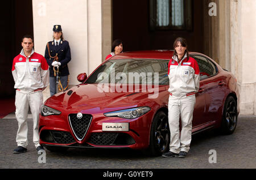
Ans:
[[[226,98],[222,122],[221,132],[224,134],[232,134],[237,127],[237,103],[234,97]]]

